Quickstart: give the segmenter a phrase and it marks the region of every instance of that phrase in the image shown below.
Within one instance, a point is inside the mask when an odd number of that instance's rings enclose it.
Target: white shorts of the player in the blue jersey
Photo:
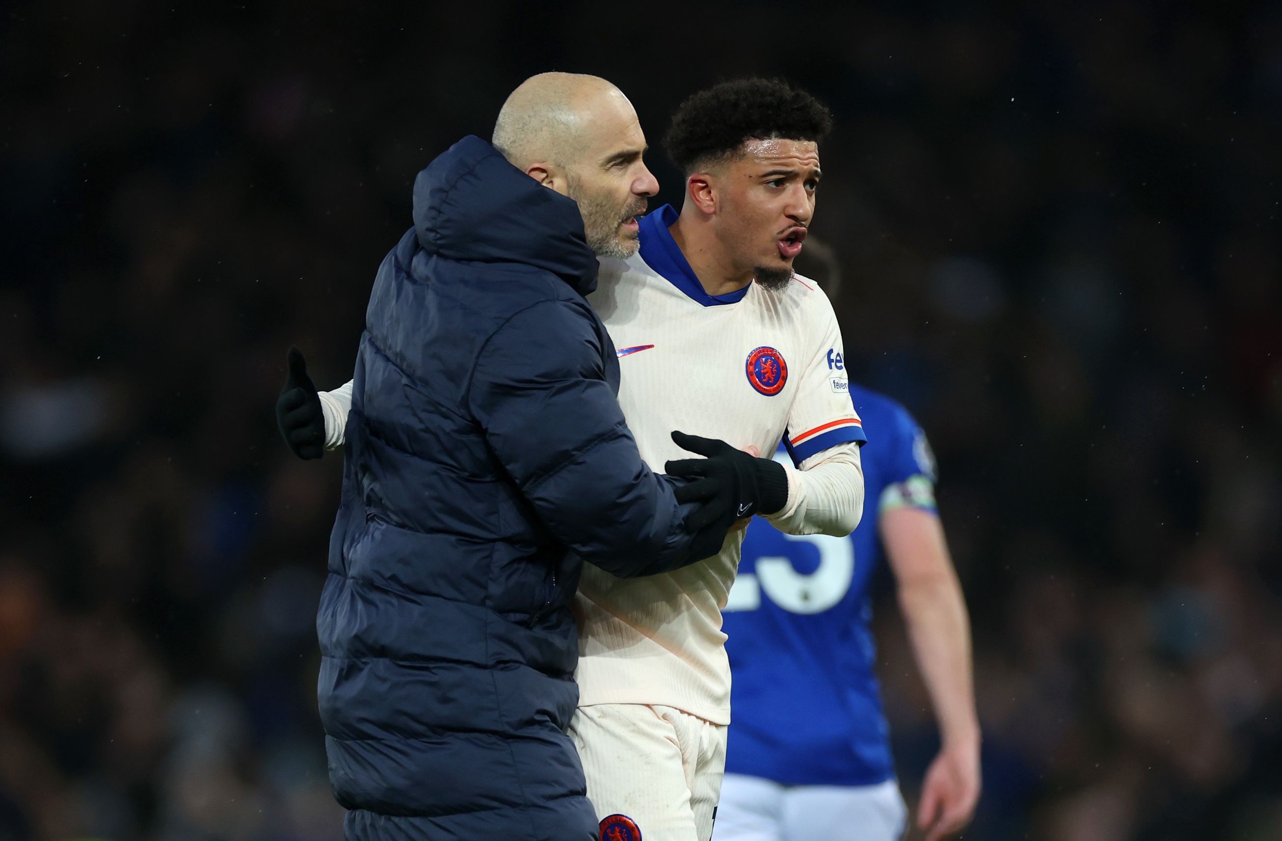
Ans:
[[[897,841],[908,806],[894,779],[874,786],[781,786],[726,774],[717,841]]]

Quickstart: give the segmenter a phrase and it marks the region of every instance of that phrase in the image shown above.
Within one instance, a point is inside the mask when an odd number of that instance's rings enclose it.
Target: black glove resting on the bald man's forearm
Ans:
[[[782,464],[736,450],[717,438],[673,432],[672,440],[682,450],[708,456],[668,462],[663,467],[668,476],[695,479],[678,488],[678,501],[705,500],[703,508],[686,520],[691,531],[722,522],[729,528],[736,520],[753,514],[773,514],[787,505],[788,476]]]

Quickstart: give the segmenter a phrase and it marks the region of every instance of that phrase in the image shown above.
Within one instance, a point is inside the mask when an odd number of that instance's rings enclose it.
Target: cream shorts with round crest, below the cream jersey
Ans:
[[[726,770],[726,729],[672,706],[579,706],[569,736],[583,760],[601,838],[709,841]]]

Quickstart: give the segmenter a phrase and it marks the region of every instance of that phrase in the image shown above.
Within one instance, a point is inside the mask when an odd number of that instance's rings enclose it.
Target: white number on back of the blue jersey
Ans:
[[[787,558],[756,559],[756,573],[740,573],[726,600],[726,610],[756,610],[762,591],[788,613],[823,613],[840,603],[855,577],[855,545],[849,537],[783,535],[819,550],[819,567],[799,573]]]

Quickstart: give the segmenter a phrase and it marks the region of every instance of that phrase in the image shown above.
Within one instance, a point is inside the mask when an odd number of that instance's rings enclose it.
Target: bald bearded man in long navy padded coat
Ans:
[[[723,444],[703,478],[658,476],[617,401],[585,296],[597,255],[637,247],[644,150],[614,86],[545,74],[494,145],[465,137],[415,179],[369,299],[317,618],[347,838],[596,838],[567,736],[582,564],[669,572],[762,506],[763,459]],[[317,409],[296,350],[290,371],[287,440]]]

